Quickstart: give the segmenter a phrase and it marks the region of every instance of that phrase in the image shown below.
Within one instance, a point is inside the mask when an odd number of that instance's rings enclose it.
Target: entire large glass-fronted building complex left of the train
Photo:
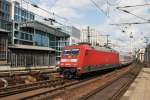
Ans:
[[[1,29],[9,34],[1,33]],[[69,44],[68,38],[68,34],[38,21],[35,14],[20,3],[0,0],[0,65],[55,65],[63,47]]]

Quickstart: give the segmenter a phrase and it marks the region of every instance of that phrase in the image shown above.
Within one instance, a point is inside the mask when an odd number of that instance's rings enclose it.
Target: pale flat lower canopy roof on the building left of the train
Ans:
[[[41,50],[41,51],[56,51],[55,49],[49,47],[40,47],[40,46],[29,46],[29,45],[18,45],[9,46],[12,49],[26,49],[26,50]]]

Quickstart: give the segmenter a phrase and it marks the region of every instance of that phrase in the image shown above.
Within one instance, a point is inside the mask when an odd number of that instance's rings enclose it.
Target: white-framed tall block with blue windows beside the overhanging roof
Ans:
[[[35,18],[34,13],[24,9],[20,3],[13,1],[13,42],[12,44],[23,44],[23,45],[33,45],[34,44],[34,32],[31,28],[20,28],[20,23],[25,23],[28,21],[33,21]]]

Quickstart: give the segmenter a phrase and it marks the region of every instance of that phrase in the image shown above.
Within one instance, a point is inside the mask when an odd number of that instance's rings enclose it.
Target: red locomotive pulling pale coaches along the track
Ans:
[[[106,47],[92,47],[89,44],[66,46],[59,63],[60,74],[66,78],[85,73],[121,67],[132,63],[131,56],[120,55]]]

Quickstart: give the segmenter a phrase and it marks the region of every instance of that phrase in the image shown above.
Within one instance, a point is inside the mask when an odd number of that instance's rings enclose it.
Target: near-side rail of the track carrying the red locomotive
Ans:
[[[115,74],[114,71],[110,72],[110,73],[107,73],[107,74],[104,74],[104,75],[102,74],[102,76],[96,76],[96,77],[91,77],[91,78],[80,80],[80,81],[75,81],[75,82],[72,82],[70,84],[66,84],[64,86],[55,88],[53,90],[45,91],[45,92],[42,92],[42,93],[38,93],[38,94],[35,94],[35,95],[32,95],[32,96],[22,98],[21,100],[34,99],[36,97],[37,98],[39,97],[38,99],[47,100],[47,99],[61,93],[62,91],[64,91],[67,88],[78,88],[80,86],[84,86],[85,84],[90,84],[92,82],[95,82],[96,80],[101,79],[101,77],[103,77],[103,76],[104,77],[109,77],[113,74]],[[59,90],[59,91],[57,91],[57,90]]]

